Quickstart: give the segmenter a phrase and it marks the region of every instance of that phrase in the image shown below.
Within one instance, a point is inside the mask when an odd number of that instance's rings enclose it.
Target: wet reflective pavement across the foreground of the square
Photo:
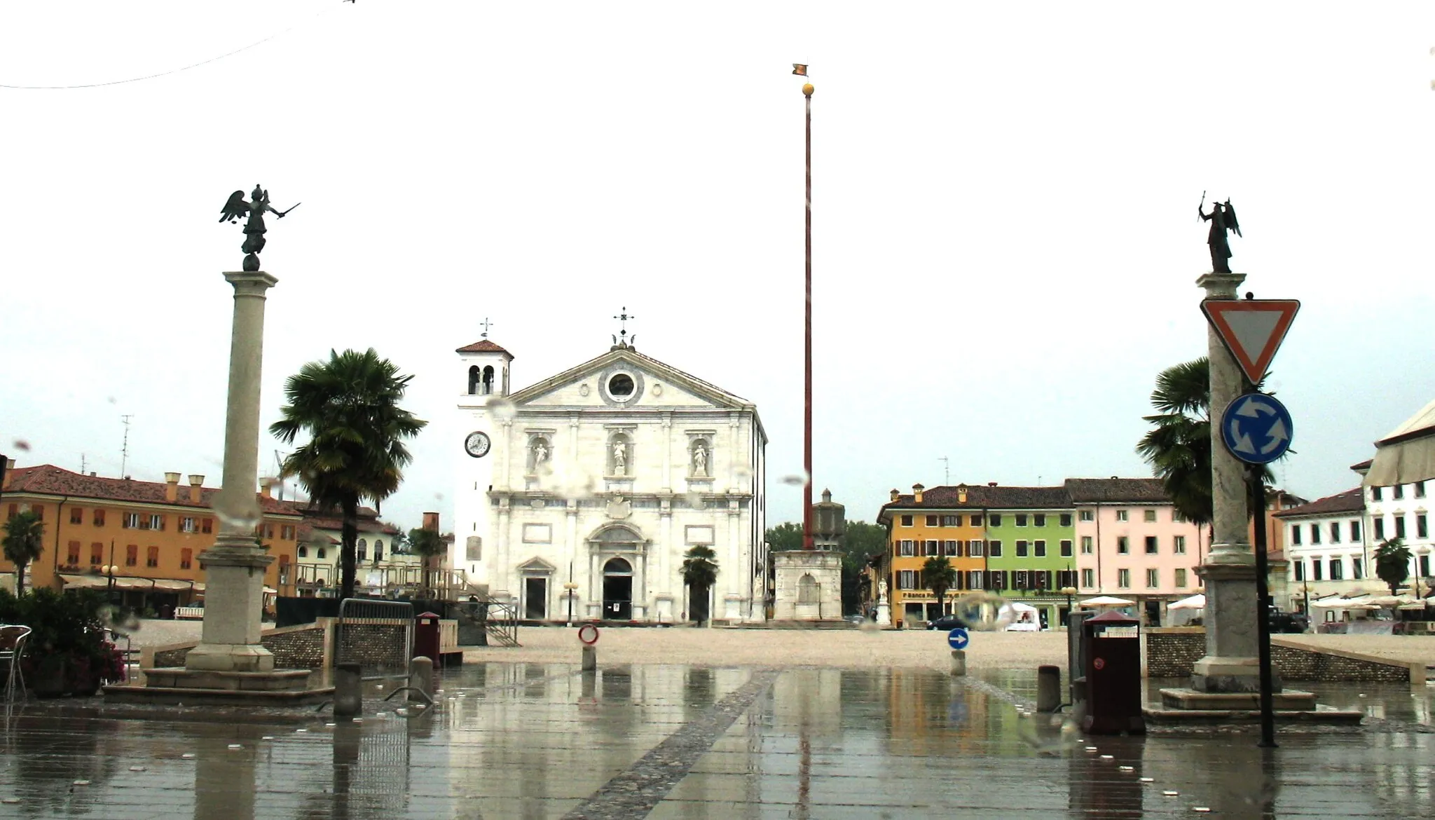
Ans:
[[[1082,737],[1029,672],[475,663],[357,722],[17,707],[0,817],[1429,817],[1431,691],[1335,688],[1372,727],[1260,750]]]

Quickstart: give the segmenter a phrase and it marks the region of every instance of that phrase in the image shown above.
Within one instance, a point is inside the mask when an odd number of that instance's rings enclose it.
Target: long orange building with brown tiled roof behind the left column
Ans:
[[[189,475],[189,484],[181,487],[178,472],[156,483],[85,475],[49,464],[11,467],[0,490],[0,514],[9,520],[34,510],[44,523],[44,551],[26,569],[29,586],[108,589],[113,574],[126,606],[158,612],[204,597],[198,557],[220,531],[212,508],[218,493],[204,487],[204,475]],[[268,494],[255,495],[263,511],[255,534],[274,556],[264,584],[278,595],[294,595],[300,508]],[[3,556],[0,572],[10,574],[13,586],[14,564]]]

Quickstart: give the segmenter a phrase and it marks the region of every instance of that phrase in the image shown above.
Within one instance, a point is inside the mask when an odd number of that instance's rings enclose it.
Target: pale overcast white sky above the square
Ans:
[[[453,348],[515,388],[637,346],[758,404],[802,461],[802,95],[812,66],[815,461],[891,487],[1145,475],[1162,368],[1205,352],[1192,205],[1243,290],[1296,297],[1271,385],[1317,497],[1435,395],[1429,3],[10,3],[0,83],[0,448],[221,472],[240,225],[270,220],[264,415],[330,348],[430,419],[385,516],[452,520]],[[293,26],[291,30],[290,29]],[[29,444],[16,451],[14,441]],[[277,442],[261,439],[261,465]]]

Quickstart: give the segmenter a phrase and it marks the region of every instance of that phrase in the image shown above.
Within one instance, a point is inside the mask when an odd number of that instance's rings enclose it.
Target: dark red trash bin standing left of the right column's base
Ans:
[[[1119,612],[1082,623],[1082,662],[1086,666],[1089,734],[1145,734],[1141,694],[1141,620]]]

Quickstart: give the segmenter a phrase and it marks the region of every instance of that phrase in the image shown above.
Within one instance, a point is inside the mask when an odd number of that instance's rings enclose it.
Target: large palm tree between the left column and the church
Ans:
[[[270,425],[284,444],[309,434],[309,442],[284,458],[281,475],[298,478],[310,505],[337,507],[343,516],[340,597],[354,592],[360,501],[370,498],[377,508],[399,488],[412,461],[403,439],[428,424],[399,406],[413,376],[397,371],[373,348],[330,350],[327,362],[309,362],[284,382],[284,418]]]

